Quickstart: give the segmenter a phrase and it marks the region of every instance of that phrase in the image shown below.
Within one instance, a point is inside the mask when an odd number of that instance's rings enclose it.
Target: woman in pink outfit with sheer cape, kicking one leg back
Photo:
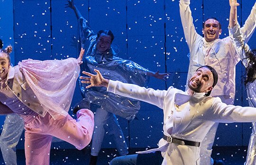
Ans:
[[[24,120],[26,165],[49,165],[53,136],[78,149],[87,146],[94,127],[89,103],[77,121],[68,115],[84,50],[78,59],[27,59],[14,67],[11,51],[0,49],[0,115],[16,113]]]

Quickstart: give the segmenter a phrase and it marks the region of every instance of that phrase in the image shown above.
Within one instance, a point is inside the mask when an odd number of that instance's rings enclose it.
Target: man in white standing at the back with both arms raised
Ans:
[[[235,99],[235,66],[240,60],[230,37],[219,39],[221,25],[216,18],[207,19],[202,28],[204,37],[196,32],[193,25],[190,0],[180,0],[180,15],[184,35],[190,49],[190,64],[187,76],[189,81],[192,74],[200,66],[209,65],[219,74],[219,82],[211,92],[211,96],[219,97],[226,104],[234,104]],[[242,33],[247,42],[256,27],[256,3],[248,16]],[[188,89],[188,87],[186,87]],[[201,143],[201,165],[223,165],[222,161],[211,160],[211,148],[214,142],[218,123],[214,124],[210,132]]]

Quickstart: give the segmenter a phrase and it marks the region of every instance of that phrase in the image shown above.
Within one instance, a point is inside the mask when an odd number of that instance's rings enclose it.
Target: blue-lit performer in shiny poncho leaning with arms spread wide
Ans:
[[[78,19],[79,29],[79,48],[85,49],[85,57],[82,59],[81,70],[92,72],[95,68],[113,80],[134,83],[145,86],[149,76],[164,80],[168,73],[160,74],[158,71],[153,73],[148,69],[139,66],[133,61],[124,60],[118,57],[117,50],[111,47],[114,35],[110,30],[101,30],[95,34],[87,20],[85,20],[73,0],[67,0],[66,7],[70,7],[75,12]],[[146,52],[145,52],[146,53]],[[91,143],[90,165],[96,165],[98,154],[104,135],[113,135],[116,148],[120,156],[128,154],[128,147],[124,139],[123,132],[119,126],[116,115],[133,120],[140,109],[140,101],[121,97],[107,92],[105,88],[93,87],[85,89],[86,84],[80,82],[83,100],[89,100],[91,104],[98,105],[94,121],[95,127]],[[83,100],[78,103],[82,108]]]

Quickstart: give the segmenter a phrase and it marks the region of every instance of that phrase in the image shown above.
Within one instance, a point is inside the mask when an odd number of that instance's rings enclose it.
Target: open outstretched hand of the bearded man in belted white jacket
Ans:
[[[90,85],[86,86],[86,88],[91,88],[91,87],[94,87],[94,86],[108,87],[109,80],[104,79],[99,70],[94,69],[94,71],[97,74],[91,74],[89,72],[82,71],[83,74],[86,74],[86,75],[89,76],[89,77],[80,76],[80,79],[84,80],[84,81],[81,81],[82,83],[89,83],[90,84]]]

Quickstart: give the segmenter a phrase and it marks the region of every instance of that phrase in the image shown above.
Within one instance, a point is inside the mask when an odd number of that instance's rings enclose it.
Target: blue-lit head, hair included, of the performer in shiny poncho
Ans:
[[[100,52],[108,51],[113,40],[114,34],[110,30],[100,30],[97,34],[96,49]]]

